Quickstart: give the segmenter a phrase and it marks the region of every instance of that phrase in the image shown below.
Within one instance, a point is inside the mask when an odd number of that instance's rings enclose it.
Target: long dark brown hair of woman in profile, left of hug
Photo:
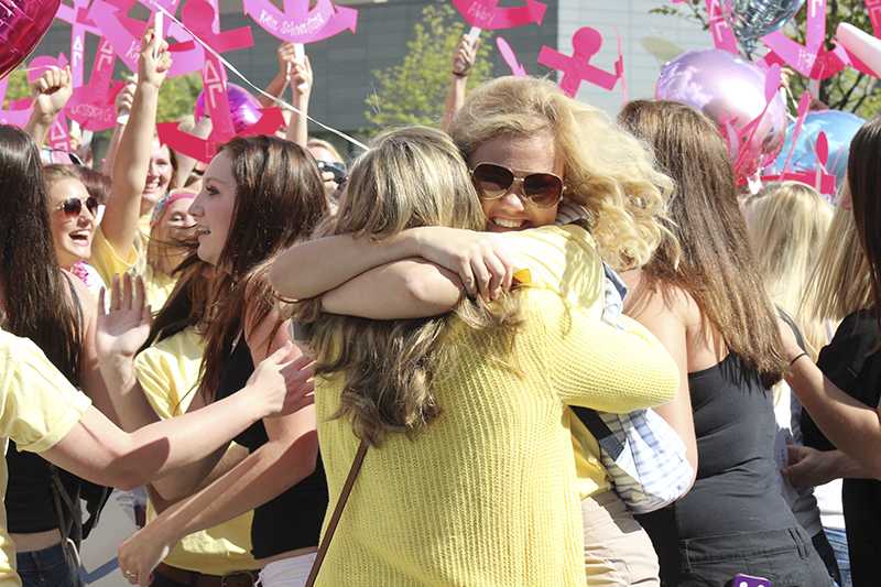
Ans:
[[[206,316],[199,392],[207,399],[219,387],[246,309],[259,322],[275,304],[267,262],[308,237],[327,214],[318,169],[300,145],[274,137],[249,137],[231,140],[220,152],[232,162],[236,204]]]

